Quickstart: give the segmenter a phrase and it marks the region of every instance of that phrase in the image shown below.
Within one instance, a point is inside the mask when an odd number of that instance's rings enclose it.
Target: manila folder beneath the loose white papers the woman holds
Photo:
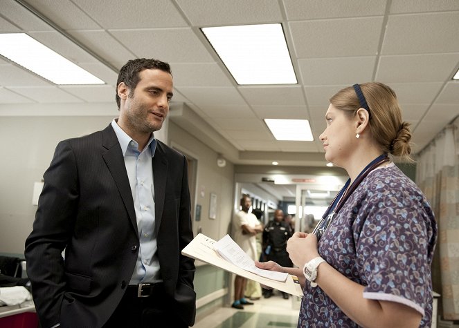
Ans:
[[[265,286],[271,287],[273,289],[278,289],[279,291],[284,291],[285,293],[289,293],[294,296],[303,296],[303,289],[301,289],[298,277],[289,274],[285,282],[280,282],[258,276],[255,273],[241,269],[240,267],[237,267],[237,265],[224,260],[224,258],[221,258],[214,250],[213,244],[215,244],[215,240],[207,237],[206,235],[203,235],[202,233],[199,233],[181,251],[181,253],[188,256],[189,258],[194,258],[195,260],[206,262],[210,265],[213,265],[214,267],[219,267],[225,271],[235,273],[237,276],[260,282],[260,284],[264,284]]]

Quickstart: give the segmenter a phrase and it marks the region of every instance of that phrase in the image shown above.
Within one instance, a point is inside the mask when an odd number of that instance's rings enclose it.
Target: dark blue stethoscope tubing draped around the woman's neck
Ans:
[[[314,233],[317,236],[317,240],[319,240],[322,237],[323,233],[328,228],[328,226],[330,226],[330,223],[336,216],[336,213],[339,212],[346,200],[348,200],[348,198],[350,197],[350,195],[352,195],[354,190],[357,189],[357,186],[359,186],[362,180],[365,179],[368,173],[373,171],[375,168],[377,168],[384,162],[387,162],[388,160],[389,157],[387,157],[386,154],[381,154],[378,157],[376,157],[375,160],[372,160],[370,164],[363,168],[361,173],[357,175],[357,178],[354,180],[354,182],[352,182],[349,189],[348,186],[350,184],[350,178],[348,179],[348,181],[346,181],[343,188],[339,191],[338,195],[334,197],[333,202],[330,204],[330,206],[328,206],[328,209],[323,214],[321,221],[318,222],[318,224],[314,228],[314,231],[312,231],[312,233]],[[346,189],[348,190],[346,191]]]

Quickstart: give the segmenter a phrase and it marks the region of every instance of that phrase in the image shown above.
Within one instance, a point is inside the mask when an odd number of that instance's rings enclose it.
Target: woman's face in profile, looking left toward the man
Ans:
[[[327,128],[319,135],[325,150],[325,160],[343,167],[357,146],[357,122],[332,104],[328,107],[325,119]]]

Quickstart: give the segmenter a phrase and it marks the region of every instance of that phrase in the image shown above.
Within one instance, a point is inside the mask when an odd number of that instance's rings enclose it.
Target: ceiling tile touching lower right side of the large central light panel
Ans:
[[[303,84],[355,84],[372,80],[375,56],[299,59]]]

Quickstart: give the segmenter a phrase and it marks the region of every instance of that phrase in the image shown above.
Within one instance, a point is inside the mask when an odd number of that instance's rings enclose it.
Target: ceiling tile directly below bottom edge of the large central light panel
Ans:
[[[240,86],[239,90],[249,105],[305,105],[300,86]]]

